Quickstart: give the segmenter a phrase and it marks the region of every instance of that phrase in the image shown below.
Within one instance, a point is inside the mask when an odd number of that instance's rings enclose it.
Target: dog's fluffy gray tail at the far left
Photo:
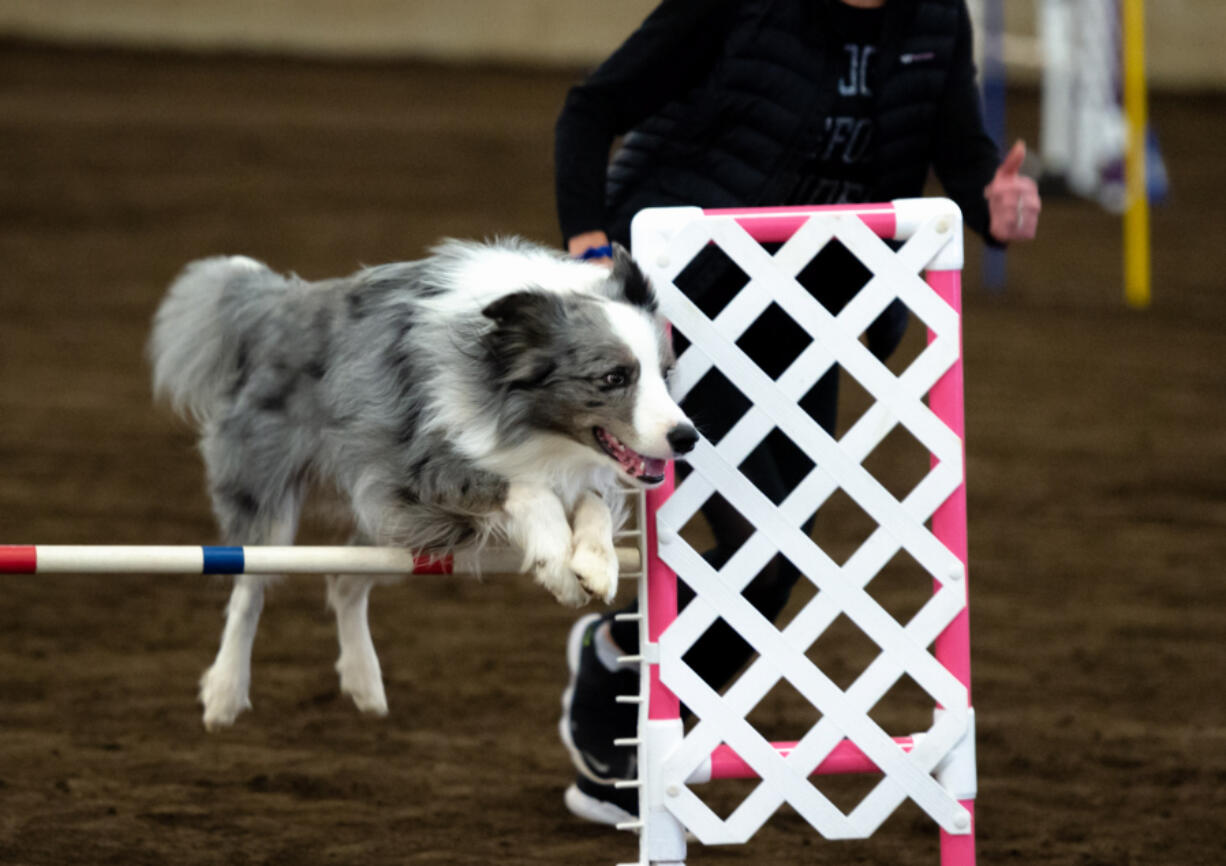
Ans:
[[[275,299],[284,280],[242,255],[192,261],[153,316],[148,357],[153,394],[175,411],[207,420],[240,375],[243,319]]]

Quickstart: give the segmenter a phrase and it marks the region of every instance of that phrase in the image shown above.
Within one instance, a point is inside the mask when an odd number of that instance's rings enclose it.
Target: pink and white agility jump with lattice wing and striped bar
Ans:
[[[674,485],[669,467],[663,486],[636,494],[640,531],[618,535],[622,577],[638,579],[640,597],[639,613],[620,615],[639,623],[640,654],[633,661],[640,662],[640,691],[618,698],[639,705],[639,729],[635,737],[617,743],[639,753],[639,778],[619,783],[639,789],[639,818],[624,826],[639,832],[636,862],[683,864],[687,832],[705,844],[748,841],[785,802],[826,838],[864,838],[910,799],[940,828],[942,866],[972,866],[976,768],[958,207],[944,199],[923,199],[846,207],[657,209],[636,218],[633,238],[662,313],[689,342],[678,358],[677,397],[718,368],[752,404],[718,443],[698,442],[689,455],[693,471],[684,481]],[[834,239],[873,275],[837,315],[796,281]],[[885,240],[901,247],[895,251]],[[767,242],[782,247],[771,254],[761,245]],[[749,277],[714,319],[674,285],[687,264],[711,244]],[[859,342],[868,324],[895,299],[928,328],[927,347],[897,377]],[[772,303],[812,336],[777,379],[736,345]],[[835,363],[875,399],[837,440],[797,404]],[[901,500],[861,465],[899,426],[932,455],[927,475]],[[775,428],[814,461],[779,505],[737,469]],[[837,489],[878,524],[842,565],[798,529]],[[680,535],[716,491],[756,527],[720,570]],[[920,563],[934,586],[931,600],[908,622],[895,621],[864,589],[899,551]],[[739,594],[776,553],[792,559],[819,589],[782,630]],[[511,550],[432,558],[373,547],[10,546],[0,547],[0,573],[463,574],[520,570],[521,559]],[[678,611],[677,572],[695,591],[684,611]],[[880,648],[846,689],[804,655],[840,615]],[[684,662],[687,650],[717,617],[759,656],[723,694]],[[869,710],[905,675],[933,698],[937,709],[928,730],[896,736],[881,730]],[[747,721],[781,680],[821,716],[796,742],[769,742]],[[680,719],[683,702],[698,720],[689,732]],[[809,781],[829,773],[880,773],[881,779],[845,813]],[[702,784],[726,778],[763,783],[720,818],[699,791]]]

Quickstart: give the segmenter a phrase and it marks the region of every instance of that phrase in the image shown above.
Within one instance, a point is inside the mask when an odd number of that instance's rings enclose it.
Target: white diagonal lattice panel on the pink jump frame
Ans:
[[[696,209],[669,209],[650,217],[652,231],[635,228],[635,255],[660,294],[664,315],[690,341],[678,358],[674,388],[688,394],[717,367],[752,406],[718,445],[702,439],[689,456],[693,472],[657,515],[660,557],[684,575],[696,597],[663,633],[658,648],[661,678],[699,720],[660,767],[645,789],[667,790],[663,805],[706,844],[744,841],[785,802],[828,838],[859,838],[911,799],[950,833],[965,832],[966,810],[933,776],[969,729],[966,688],[928,648],[965,606],[964,567],[926,523],[964,477],[960,437],[924,404],[924,395],[959,357],[959,315],[922,278],[922,271],[959,243],[949,218],[922,222],[901,249],[893,250],[858,217],[814,216],[774,255],[731,216],[704,216]],[[956,226],[956,221],[954,223]],[[661,231],[661,226],[666,226]],[[797,281],[797,275],[832,238],[872,272],[869,282],[832,315]],[[715,316],[707,318],[674,280],[715,243],[749,277],[749,283]],[[933,334],[928,346],[900,375],[878,361],[861,335],[896,298]],[[775,303],[812,342],[771,379],[737,346],[737,340]],[[872,407],[837,440],[798,400],[831,366],[839,364],[872,396]],[[873,477],[862,461],[896,426],[902,426],[935,460],[901,500]],[[775,505],[737,469],[771,433],[782,431],[814,466]],[[836,491],[842,489],[877,523],[877,529],[837,564],[801,529]],[[752,538],[718,570],[682,540],[680,529],[718,492],[755,527]],[[895,621],[866,586],[899,551],[906,551],[938,584],[908,622]],[[817,588],[813,600],[777,629],[742,596],[767,562],[782,553]],[[846,689],[837,687],[805,651],[845,615],[880,653]],[[723,618],[758,653],[748,670],[721,695],[683,656],[717,618]],[[945,711],[907,753],[869,716],[877,702],[908,676]],[[758,703],[786,680],[821,718],[787,757],[747,720]],[[897,734],[897,732],[895,732]],[[907,731],[906,734],[911,734]],[[840,811],[809,781],[812,770],[847,738],[881,770],[880,781],[850,812]],[[761,778],[726,818],[687,783],[712,749],[727,743]]]

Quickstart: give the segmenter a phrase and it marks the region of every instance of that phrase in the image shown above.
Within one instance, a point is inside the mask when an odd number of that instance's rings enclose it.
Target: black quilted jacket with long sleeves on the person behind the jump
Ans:
[[[837,1],[663,0],[566,97],[563,237],[604,229],[625,243],[646,206],[791,200],[835,96]],[[870,199],[920,195],[932,168],[987,237],[983,186],[999,153],[983,130],[965,0],[888,0],[879,52]]]

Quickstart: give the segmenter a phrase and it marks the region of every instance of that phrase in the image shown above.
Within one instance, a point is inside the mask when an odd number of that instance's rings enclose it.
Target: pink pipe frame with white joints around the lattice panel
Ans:
[[[723,209],[693,210],[695,216],[731,216],[736,222],[763,243],[782,243],[792,237],[809,217],[823,213],[855,215],[884,239],[905,240],[915,233],[920,224],[931,221],[933,215],[948,213],[953,226],[949,231],[960,232],[961,217],[956,206],[948,200],[901,200],[885,204],[837,205],[826,207],[770,207],[770,209]],[[946,228],[942,228],[946,231]],[[638,251],[638,250],[636,250]],[[961,361],[961,240],[958,238],[956,251],[933,260],[924,270],[924,281],[933,292],[948,303],[959,315],[958,359],[928,393],[928,405],[932,412],[953,431],[962,444],[962,466],[965,467],[965,413]],[[929,343],[934,340],[928,334]],[[932,458],[937,462],[935,456]],[[646,563],[640,585],[640,599],[646,604],[646,621],[642,623],[644,642],[644,692],[645,707],[640,708],[640,736],[636,740],[640,748],[640,765],[645,761],[658,761],[667,754],[668,748],[680,741],[682,720],[678,697],[661,681],[657,643],[663,632],[677,618],[677,575],[660,558],[656,513],[674,489],[672,467],[660,488],[646,496],[644,516],[646,519]],[[966,534],[966,485],[962,482],[932,516],[933,535],[943,542],[962,564],[962,574],[967,574],[967,534]],[[955,591],[966,592],[967,580],[964,578]],[[935,591],[951,591],[935,581]],[[934,655],[960,683],[966,687],[967,707],[970,707],[970,629],[969,616],[964,607],[956,618],[945,628],[935,642]],[[937,708],[937,713],[940,713]],[[973,729],[969,737],[973,736]],[[910,751],[915,742],[911,737],[895,737],[895,743],[902,751]],[[771,743],[782,756],[786,756],[794,743]],[[975,866],[975,768],[973,743],[970,747],[969,761],[961,759],[961,767],[953,773],[937,775],[955,792],[958,802],[970,816],[967,832],[948,833],[940,830],[940,866]],[[964,756],[966,752],[962,753]],[[834,773],[879,773],[880,770],[852,742],[843,741],[814,770],[817,774]],[[945,781],[945,776],[949,781]],[[728,746],[717,747],[710,756],[704,769],[696,772],[690,781],[700,783],[709,779],[756,778],[756,773]],[[650,780],[647,781],[650,784]],[[669,791],[668,794],[674,794]],[[646,796],[645,796],[646,795]],[[640,803],[661,802],[660,792],[640,790]],[[685,859],[684,828],[662,808],[650,808],[633,824],[641,830],[640,864],[677,865]],[[652,830],[649,833],[649,829]],[[661,832],[663,830],[663,832]]]

